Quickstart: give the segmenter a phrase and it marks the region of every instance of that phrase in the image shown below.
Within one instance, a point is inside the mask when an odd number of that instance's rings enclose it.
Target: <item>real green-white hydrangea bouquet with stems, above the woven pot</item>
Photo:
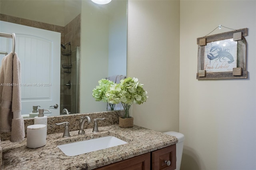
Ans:
[[[143,89],[137,78],[127,77],[122,79],[119,84],[110,85],[109,90],[105,93],[108,103],[117,104],[122,103],[125,110],[124,118],[129,118],[130,106],[134,104],[142,104],[146,102],[148,96],[147,91]]]

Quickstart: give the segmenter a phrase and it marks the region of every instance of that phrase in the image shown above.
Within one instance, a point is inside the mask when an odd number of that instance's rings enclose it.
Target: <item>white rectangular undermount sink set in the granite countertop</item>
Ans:
[[[118,139],[114,136],[105,136],[79,142],[58,145],[58,148],[67,156],[76,156],[93,152],[96,150],[106,149],[121,144],[126,144],[124,140]]]

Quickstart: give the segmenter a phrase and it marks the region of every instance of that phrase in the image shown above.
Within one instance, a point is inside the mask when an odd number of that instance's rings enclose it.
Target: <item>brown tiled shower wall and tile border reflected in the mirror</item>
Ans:
[[[70,23],[68,23],[65,27],[57,26],[53,24],[47,24],[43,22],[27,20],[24,18],[18,18],[14,16],[8,16],[5,14],[0,14],[0,20],[5,22],[11,22],[15,24],[20,24],[24,26],[30,26],[34,28],[40,28],[44,30],[50,30],[54,32],[61,33],[61,43],[70,42],[72,55],[72,68],[71,73],[64,73],[64,69],[62,68],[63,63],[67,63],[67,56],[61,55],[61,70],[60,70],[60,112],[64,108],[68,109],[71,113],[77,113],[79,108],[76,109],[76,46],[80,47],[80,14],[76,16]],[[66,45],[66,47],[68,47]],[[61,47],[60,47],[61,48]],[[68,83],[68,80],[71,81],[72,86],[71,89],[68,89],[64,84]],[[79,90],[79,89],[78,89]],[[78,92],[79,95],[79,92]],[[79,99],[80,97],[78,97]]]

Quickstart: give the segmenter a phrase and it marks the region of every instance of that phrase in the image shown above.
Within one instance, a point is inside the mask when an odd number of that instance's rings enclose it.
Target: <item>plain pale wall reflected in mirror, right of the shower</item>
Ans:
[[[92,90],[100,79],[112,75],[126,75],[126,2],[113,1],[106,8],[89,0],[82,1],[81,113],[106,111],[106,103],[95,101]],[[125,62],[118,64],[124,60]],[[111,73],[109,67],[112,67]]]

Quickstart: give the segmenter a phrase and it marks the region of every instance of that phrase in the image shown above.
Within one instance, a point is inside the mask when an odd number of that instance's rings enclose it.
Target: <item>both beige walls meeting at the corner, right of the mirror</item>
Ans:
[[[256,169],[255,9],[255,0],[128,1],[127,73],[149,96],[132,115],[136,125],[185,135],[183,170]],[[196,79],[196,38],[220,24],[248,28],[248,79]]]

